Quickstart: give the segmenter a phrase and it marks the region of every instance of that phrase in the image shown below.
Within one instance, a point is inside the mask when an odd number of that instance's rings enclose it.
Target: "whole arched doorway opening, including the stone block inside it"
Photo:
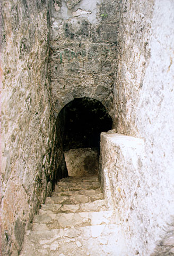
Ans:
[[[55,181],[68,174],[91,175],[97,171],[100,133],[112,129],[112,119],[105,106],[91,98],[74,99],[60,111],[56,125],[58,152],[55,155],[58,156],[58,162]],[[70,166],[69,162],[74,165]],[[74,169],[74,172],[70,169]]]

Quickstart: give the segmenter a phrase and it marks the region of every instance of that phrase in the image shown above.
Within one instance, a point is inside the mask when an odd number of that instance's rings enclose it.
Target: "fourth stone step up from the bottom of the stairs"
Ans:
[[[103,194],[85,196],[85,195],[74,195],[74,196],[51,196],[47,197],[45,204],[83,204],[93,202],[95,200],[103,199]]]

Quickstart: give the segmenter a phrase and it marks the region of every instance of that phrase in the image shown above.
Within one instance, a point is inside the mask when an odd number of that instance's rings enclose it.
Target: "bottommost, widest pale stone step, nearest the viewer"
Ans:
[[[94,225],[72,229],[27,231],[20,256],[124,256],[120,226]],[[120,244],[123,244],[121,249]]]

